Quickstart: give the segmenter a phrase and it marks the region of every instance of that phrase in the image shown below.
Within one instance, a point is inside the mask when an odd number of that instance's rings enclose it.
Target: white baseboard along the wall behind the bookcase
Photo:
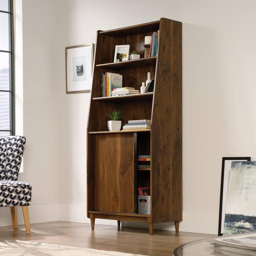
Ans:
[[[60,204],[60,221],[90,223],[87,217],[86,205]],[[183,211],[183,221],[179,231],[203,234],[217,234],[219,214],[215,212]],[[96,219],[95,224],[117,226],[115,220]],[[148,228],[147,223],[122,221],[122,226]],[[175,231],[174,222],[158,223],[154,229]]]

